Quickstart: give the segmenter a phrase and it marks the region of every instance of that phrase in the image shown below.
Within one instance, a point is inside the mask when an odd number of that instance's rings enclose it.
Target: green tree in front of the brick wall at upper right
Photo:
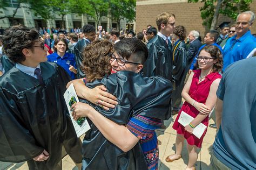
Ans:
[[[188,3],[197,3],[198,1],[188,0]],[[204,6],[200,8],[203,25],[214,30],[219,13],[235,20],[238,13],[250,10],[252,0],[201,0],[200,2],[204,2]]]

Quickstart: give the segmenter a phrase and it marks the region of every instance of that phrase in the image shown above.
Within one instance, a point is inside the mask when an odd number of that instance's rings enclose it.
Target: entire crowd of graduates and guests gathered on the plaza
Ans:
[[[69,154],[79,169],[158,169],[155,130],[177,115],[176,150],[167,164],[182,158],[186,140],[186,169],[196,169],[210,126],[217,129],[211,169],[256,169],[254,19],[242,12],[234,25],[206,32],[203,44],[198,31],[176,26],[167,12],[157,16],[157,28],[147,25],[137,34],[90,24],[69,33],[6,29],[0,161],[62,169]],[[73,117],[63,97],[71,83],[80,98],[71,106]],[[216,124],[209,125],[212,114]],[[80,117],[91,128],[82,143],[71,122]]]

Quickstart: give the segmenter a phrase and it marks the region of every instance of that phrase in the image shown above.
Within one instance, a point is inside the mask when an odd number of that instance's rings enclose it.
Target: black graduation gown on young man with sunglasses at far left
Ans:
[[[16,67],[0,78],[0,161],[28,161],[30,169],[54,169],[62,159],[62,147],[77,163],[81,144],[63,97],[70,81],[55,63],[41,63],[44,86]],[[32,158],[48,151],[43,162]]]

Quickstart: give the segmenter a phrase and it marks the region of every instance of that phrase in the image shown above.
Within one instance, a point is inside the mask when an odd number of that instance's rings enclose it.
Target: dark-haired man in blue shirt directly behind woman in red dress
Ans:
[[[219,37],[219,32],[216,30],[210,30],[204,38],[204,42],[205,44],[202,45],[199,49],[198,49],[198,53],[196,55],[196,57],[194,58],[193,62],[191,63],[190,66],[190,70],[188,71],[188,73],[190,74],[192,72],[192,70],[196,69],[196,67],[194,66],[194,64],[197,62],[197,56],[199,55],[199,52],[201,51],[202,48],[204,48],[207,45],[214,45],[217,46],[221,53],[223,54],[223,49],[221,48],[221,46],[219,46],[215,41],[217,40],[217,38]]]

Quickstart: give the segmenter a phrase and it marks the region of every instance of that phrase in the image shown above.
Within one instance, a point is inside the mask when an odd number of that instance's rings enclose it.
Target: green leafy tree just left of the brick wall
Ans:
[[[110,0],[111,19],[118,24],[120,29],[120,20],[126,18],[128,22],[135,19],[136,0]]]

